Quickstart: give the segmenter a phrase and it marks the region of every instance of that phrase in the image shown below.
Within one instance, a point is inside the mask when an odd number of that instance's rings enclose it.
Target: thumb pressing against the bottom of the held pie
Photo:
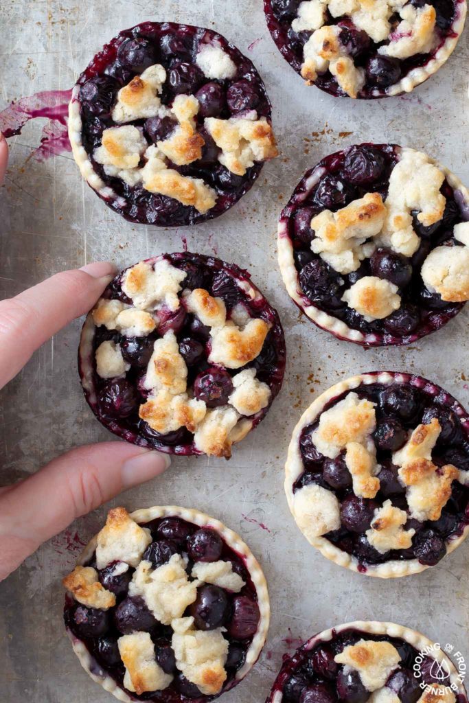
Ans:
[[[77,517],[164,472],[167,454],[124,442],[72,449],[0,493],[0,580]]]

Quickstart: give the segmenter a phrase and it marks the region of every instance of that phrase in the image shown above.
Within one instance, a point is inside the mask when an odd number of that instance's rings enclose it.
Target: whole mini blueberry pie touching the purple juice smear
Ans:
[[[174,22],[144,22],[104,46],[73,89],[69,136],[109,207],[165,227],[225,212],[277,155],[251,61],[221,34]]]

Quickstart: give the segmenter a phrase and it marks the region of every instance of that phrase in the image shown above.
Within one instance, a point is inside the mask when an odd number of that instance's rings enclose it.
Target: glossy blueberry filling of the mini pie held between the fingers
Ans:
[[[250,288],[255,288],[247,271],[203,254],[165,254],[165,259],[172,266],[186,271],[187,276],[182,283],[184,289],[205,288],[210,295],[223,299],[228,317],[233,307],[243,304],[250,316],[262,318],[272,325],[260,354],[254,361],[236,370],[210,364],[210,328],[203,325],[198,317],[188,313],[183,304],[175,313],[168,311],[165,314],[161,311],[158,329],[148,337],[124,337],[117,330],[107,330],[103,326],[94,330],[92,358],[85,361],[93,365],[96,399],[91,399],[89,392],[85,391],[85,395],[98,420],[108,430],[134,444],[167,453],[190,455],[199,452],[193,444],[193,433],[186,430],[186,427],[169,434],[159,434],[139,418],[139,406],[149,394],[143,387],[143,378],[155,340],[168,330],[174,331],[179,342],[179,353],[188,368],[188,389],[192,388],[194,396],[205,401],[209,408],[226,405],[233,389],[233,375],[244,368],[255,368],[256,378],[269,385],[271,390],[269,405],[250,418],[252,427],[256,427],[281,389],[285,371],[285,339],[276,310],[262,295],[259,294],[252,300],[238,285],[249,282]],[[121,283],[122,274],[111,281],[103,297],[131,304],[131,300],[122,292]],[[120,344],[124,361],[130,364],[125,378],[105,380],[96,373],[94,355],[99,345],[106,340]],[[82,378],[86,375],[83,364],[82,359],[79,368]]]

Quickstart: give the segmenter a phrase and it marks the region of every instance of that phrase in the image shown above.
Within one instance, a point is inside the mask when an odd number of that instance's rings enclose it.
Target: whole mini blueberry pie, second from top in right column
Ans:
[[[364,347],[409,344],[469,299],[469,191],[424,153],[360,144],[325,157],[278,224],[293,301]]]

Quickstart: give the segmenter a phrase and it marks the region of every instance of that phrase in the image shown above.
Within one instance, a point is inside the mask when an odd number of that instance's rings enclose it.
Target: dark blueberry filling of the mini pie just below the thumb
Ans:
[[[245,582],[243,589],[236,594],[206,583],[199,586],[197,600],[188,606],[184,614],[184,617],[194,617],[196,629],[207,631],[219,627],[226,628],[224,637],[229,641],[229,652],[225,664],[227,678],[222,692],[229,690],[236,684],[236,672],[245,663],[246,652],[260,619],[257,591],[243,557],[229,547],[214,529],[200,528],[179,517],[159,518],[143,524],[143,527],[150,529],[153,538],[153,542],[143,554],[143,559],[150,561],[153,568],[167,563],[173,554],[180,554],[187,558],[186,571],[189,580],[193,580],[191,570],[196,561],[224,560],[231,562],[233,572]],[[96,568],[94,556],[86,566]],[[129,583],[135,569],[129,567],[124,574],[113,576],[114,566],[98,569],[98,578],[104,588],[115,594],[115,607],[106,611],[85,607],[70,598],[70,595],[67,595],[65,600],[65,625],[73,636],[82,640],[91,654],[91,673],[101,677],[105,673],[124,689],[125,670],[117,640],[134,631],[149,632],[155,645],[158,664],[165,673],[172,674],[174,679],[165,690],[142,695],[131,693],[132,699],[161,703],[180,703],[186,699],[214,699],[216,696],[203,695],[197,686],[176,669],[171,646],[172,628],[160,624],[155,619],[143,598],[128,595]]]

